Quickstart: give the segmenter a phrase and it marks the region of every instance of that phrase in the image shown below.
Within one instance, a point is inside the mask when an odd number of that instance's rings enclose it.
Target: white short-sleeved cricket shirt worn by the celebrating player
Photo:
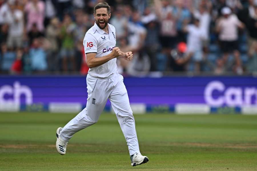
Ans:
[[[91,27],[83,40],[85,54],[96,53],[96,58],[108,55],[116,45],[115,27],[107,24],[109,34],[99,28],[97,24]],[[90,68],[88,74],[93,77],[105,78],[117,72],[116,58],[113,58],[105,64]]]

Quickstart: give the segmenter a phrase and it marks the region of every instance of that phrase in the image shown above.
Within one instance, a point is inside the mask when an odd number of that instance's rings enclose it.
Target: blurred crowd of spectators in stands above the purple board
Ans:
[[[101,0],[0,0],[0,73],[81,73]],[[257,72],[257,0],[109,0],[119,73]]]

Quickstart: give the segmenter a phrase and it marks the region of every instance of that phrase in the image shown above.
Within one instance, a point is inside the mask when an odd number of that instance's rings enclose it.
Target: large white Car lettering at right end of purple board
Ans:
[[[204,99],[210,106],[229,107],[257,104],[257,87],[225,87],[220,81],[212,81],[204,89]]]

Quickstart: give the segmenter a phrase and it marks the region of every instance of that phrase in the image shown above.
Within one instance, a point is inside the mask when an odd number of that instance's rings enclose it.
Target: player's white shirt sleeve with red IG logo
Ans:
[[[90,33],[86,33],[83,40],[85,54],[87,53],[97,53],[97,39]]]

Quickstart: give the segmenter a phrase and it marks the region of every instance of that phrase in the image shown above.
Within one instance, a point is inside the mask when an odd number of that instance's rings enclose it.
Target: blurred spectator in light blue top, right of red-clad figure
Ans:
[[[31,68],[35,72],[43,72],[47,70],[46,53],[41,47],[39,38],[35,38],[32,48],[29,50],[31,57]]]

